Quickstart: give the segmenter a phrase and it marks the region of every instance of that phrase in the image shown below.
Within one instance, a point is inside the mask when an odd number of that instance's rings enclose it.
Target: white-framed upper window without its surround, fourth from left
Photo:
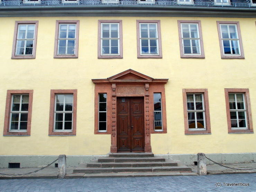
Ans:
[[[157,23],[140,23],[141,55],[159,55]]]

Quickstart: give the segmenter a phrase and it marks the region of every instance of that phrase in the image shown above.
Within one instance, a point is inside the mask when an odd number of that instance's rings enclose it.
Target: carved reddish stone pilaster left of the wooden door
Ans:
[[[111,147],[110,147],[110,152],[111,153],[117,153],[117,121],[116,121],[116,84],[112,84],[112,118],[111,118],[111,128],[112,128],[112,133],[111,133]]]

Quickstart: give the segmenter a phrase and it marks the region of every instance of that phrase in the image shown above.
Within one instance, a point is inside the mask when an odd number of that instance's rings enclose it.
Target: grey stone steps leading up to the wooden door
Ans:
[[[191,173],[192,169],[181,163],[165,160],[163,157],[155,157],[153,153],[111,153],[109,157],[82,163],[73,170],[74,174],[83,177],[157,176],[177,172]],[[75,177],[70,175],[72,176]]]

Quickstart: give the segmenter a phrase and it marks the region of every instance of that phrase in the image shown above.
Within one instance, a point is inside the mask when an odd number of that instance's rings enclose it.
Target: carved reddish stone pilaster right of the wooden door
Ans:
[[[145,108],[146,108],[146,113],[145,113],[145,153],[151,153],[152,148],[150,145],[150,130],[149,130],[149,84],[145,84]]]

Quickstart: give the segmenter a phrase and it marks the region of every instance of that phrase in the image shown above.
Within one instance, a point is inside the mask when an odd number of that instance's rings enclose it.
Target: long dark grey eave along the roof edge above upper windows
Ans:
[[[256,18],[256,7],[181,6],[1,6],[0,17],[227,17]]]

